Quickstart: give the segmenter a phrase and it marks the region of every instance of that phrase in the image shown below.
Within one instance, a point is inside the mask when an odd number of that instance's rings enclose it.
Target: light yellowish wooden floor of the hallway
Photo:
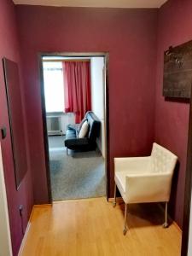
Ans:
[[[35,206],[20,256],[179,256],[181,232],[163,229],[156,204],[130,205],[123,236],[124,204],[105,198]]]

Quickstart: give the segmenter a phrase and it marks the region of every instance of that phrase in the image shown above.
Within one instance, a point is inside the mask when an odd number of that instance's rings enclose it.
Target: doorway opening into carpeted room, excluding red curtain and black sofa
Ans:
[[[108,54],[40,54],[39,61],[49,201],[108,198]],[[96,148],[76,150],[65,143],[69,127],[77,129],[82,120],[77,121],[73,111],[65,111],[69,61],[90,62],[91,108],[84,116],[88,114],[87,121],[89,115],[96,116],[100,122]]]

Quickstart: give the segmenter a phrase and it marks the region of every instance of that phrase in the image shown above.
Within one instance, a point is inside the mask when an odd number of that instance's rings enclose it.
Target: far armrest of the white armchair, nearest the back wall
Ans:
[[[119,157],[114,158],[114,171],[144,172],[150,166],[150,156],[146,157]]]

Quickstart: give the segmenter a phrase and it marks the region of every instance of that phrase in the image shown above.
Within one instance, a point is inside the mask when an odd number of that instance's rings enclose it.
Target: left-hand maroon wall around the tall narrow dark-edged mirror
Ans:
[[[3,153],[3,169],[9,204],[9,221],[14,255],[20,247],[22,239],[21,220],[19,213],[20,204],[23,209],[23,223],[26,228],[27,220],[32,209],[32,183],[29,170],[26,173],[18,191],[15,189],[15,172],[12,158],[12,148],[9,131],[9,114],[6,102],[5,84],[3,78],[2,58],[20,62],[19,44],[15,26],[15,6],[11,0],[2,0],[0,8],[0,127],[6,126],[8,135],[1,139]],[[20,117],[18,117],[20,120]],[[22,152],[20,152],[22,154]]]

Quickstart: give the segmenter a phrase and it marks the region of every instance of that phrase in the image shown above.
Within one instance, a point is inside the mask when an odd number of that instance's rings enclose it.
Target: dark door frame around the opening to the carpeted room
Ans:
[[[49,144],[47,135],[47,122],[46,122],[46,108],[44,97],[44,71],[43,71],[43,57],[45,56],[65,56],[65,57],[104,57],[105,61],[105,84],[104,84],[104,117],[105,117],[105,174],[106,174],[106,197],[110,195],[110,173],[109,173],[109,93],[108,93],[108,52],[40,52],[38,53],[38,70],[40,75],[40,90],[41,90],[41,108],[42,108],[42,120],[44,130],[44,155],[45,155],[45,167],[47,177],[47,187],[49,203],[52,203],[50,170],[49,170]]]

